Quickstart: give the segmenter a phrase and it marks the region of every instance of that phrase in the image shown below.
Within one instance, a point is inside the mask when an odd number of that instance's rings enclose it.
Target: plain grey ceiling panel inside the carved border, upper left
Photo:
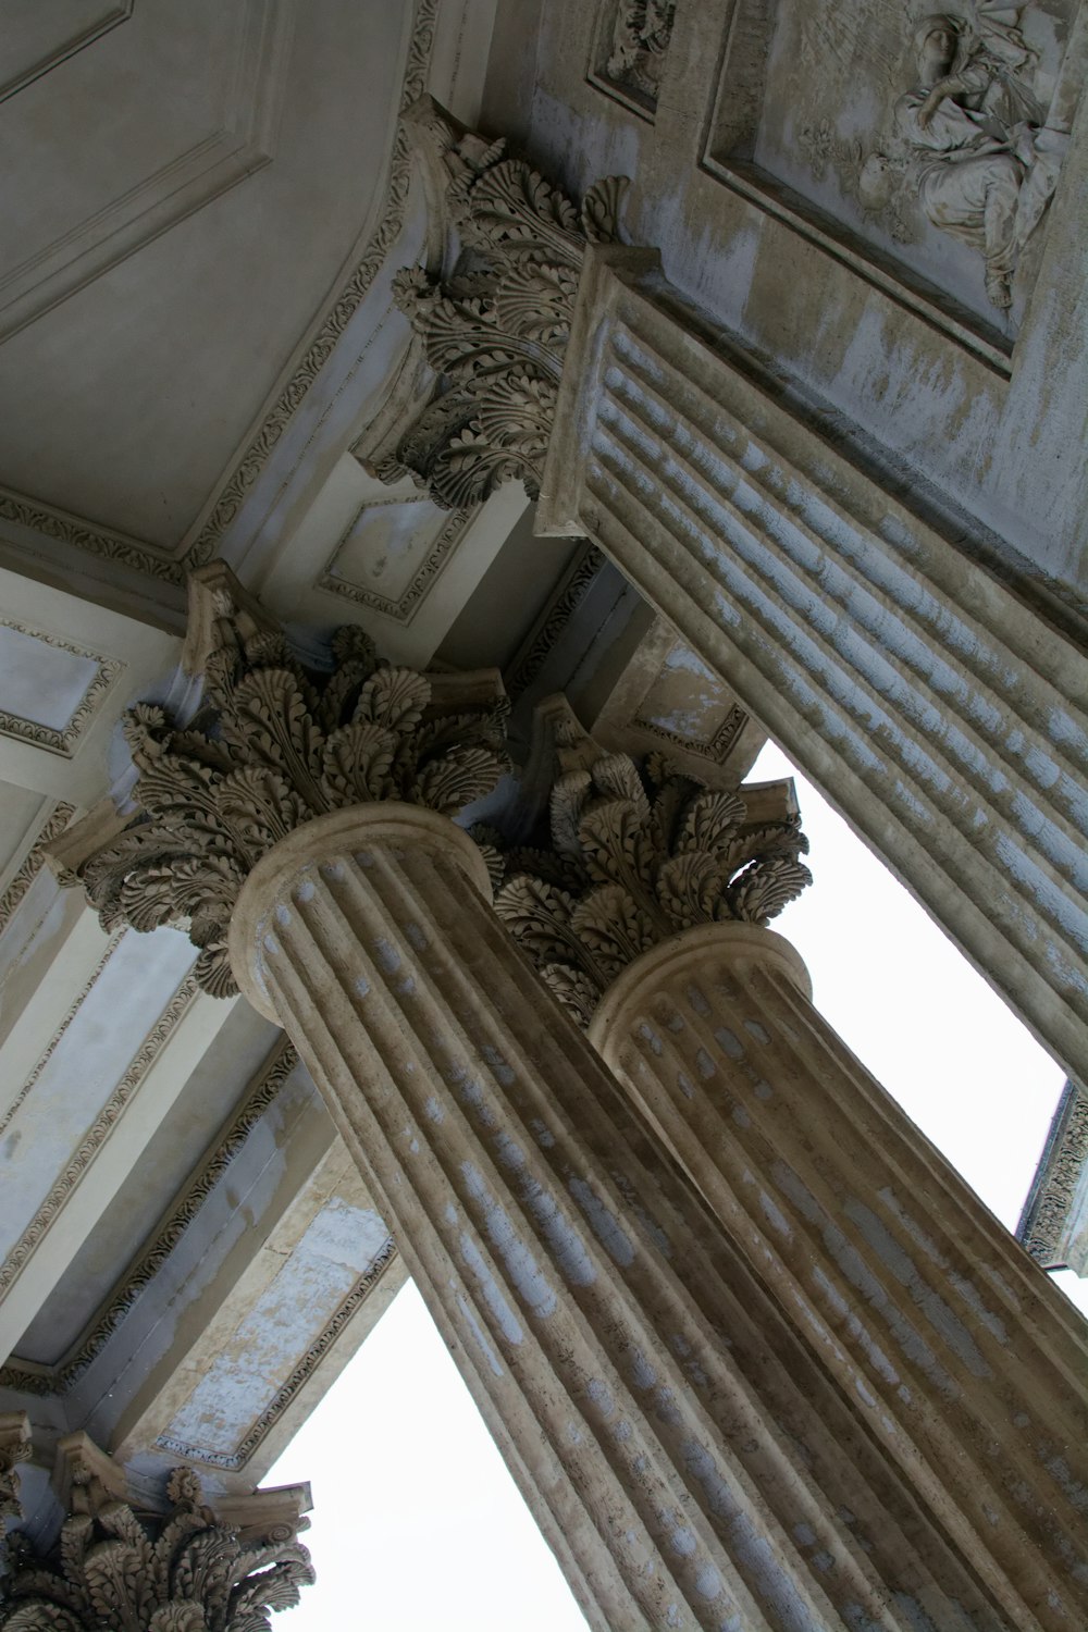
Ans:
[[[413,8],[11,10],[0,480],[176,553],[383,202]]]

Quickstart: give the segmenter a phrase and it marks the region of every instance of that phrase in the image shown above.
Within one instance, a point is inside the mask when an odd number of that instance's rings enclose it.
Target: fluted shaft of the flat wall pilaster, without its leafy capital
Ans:
[[[590,248],[537,516],[584,534],[1088,1080],[1088,661],[827,406]]]

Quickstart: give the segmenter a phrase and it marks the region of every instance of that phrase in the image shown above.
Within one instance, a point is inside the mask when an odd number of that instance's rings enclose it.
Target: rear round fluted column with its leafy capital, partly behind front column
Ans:
[[[807,878],[796,824],[621,756],[551,821],[501,916],[1008,1624],[1085,1624],[1083,1322],[762,927]]]

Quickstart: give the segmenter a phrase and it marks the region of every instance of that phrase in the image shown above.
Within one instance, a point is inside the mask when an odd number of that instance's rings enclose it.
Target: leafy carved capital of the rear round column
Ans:
[[[767,924],[811,873],[798,818],[754,824],[739,793],[679,775],[661,754],[566,770],[551,847],[478,842],[496,911],[579,1025],[639,953],[697,924]]]

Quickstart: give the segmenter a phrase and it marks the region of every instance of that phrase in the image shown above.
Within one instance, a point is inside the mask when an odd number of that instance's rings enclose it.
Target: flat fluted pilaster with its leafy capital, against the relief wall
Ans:
[[[1083,627],[685,313],[610,242],[615,180],[577,209],[429,100],[414,129],[471,261],[400,274],[436,397],[360,457],[442,504],[517,477],[600,545],[1088,1082]]]

